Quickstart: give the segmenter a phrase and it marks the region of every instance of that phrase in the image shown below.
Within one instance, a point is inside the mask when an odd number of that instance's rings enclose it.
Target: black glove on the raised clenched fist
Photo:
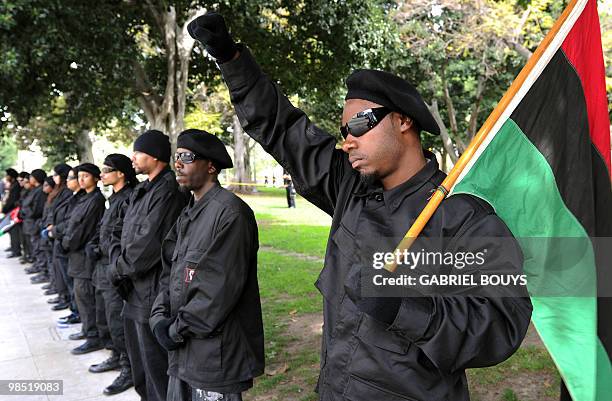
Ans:
[[[230,61],[238,51],[221,14],[210,12],[199,16],[189,23],[187,31],[192,38],[202,42],[208,54],[219,64]]]

